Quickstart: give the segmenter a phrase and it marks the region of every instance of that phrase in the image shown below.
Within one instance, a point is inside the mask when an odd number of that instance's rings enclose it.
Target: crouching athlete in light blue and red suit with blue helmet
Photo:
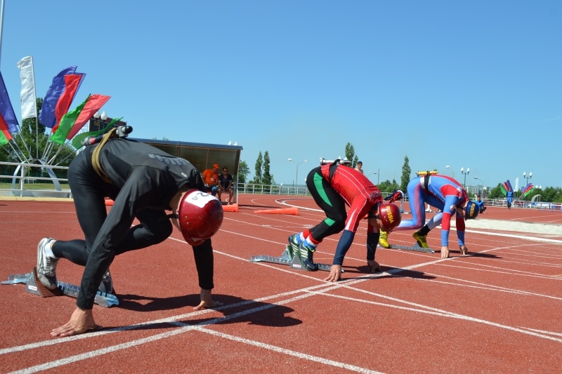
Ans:
[[[455,215],[459,248],[461,253],[466,255],[468,249],[464,245],[464,220],[476,218],[479,209],[476,203],[469,199],[462,185],[445,175],[428,174],[410,180],[407,192],[412,220],[402,220],[396,230],[420,229],[414,232],[414,239],[419,246],[429,248],[426,241],[427,234],[434,227],[441,225],[441,258],[448,258],[450,221]],[[426,222],[425,203],[440,210],[440,213],[434,215],[426,225],[424,225]],[[381,231],[379,243],[384,248],[390,247],[387,232]]]

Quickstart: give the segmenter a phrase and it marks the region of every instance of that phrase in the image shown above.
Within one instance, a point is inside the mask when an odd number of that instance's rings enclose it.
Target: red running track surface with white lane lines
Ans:
[[[362,224],[344,281],[327,283],[326,272],[249,262],[251,255],[281,255],[289,234],[322,220],[311,198],[244,195],[240,201],[240,211],[225,213],[213,239],[213,292],[223,307],[192,311],[199,300],[195,263],[174,232],[158,246],[115,259],[121,304],[94,307],[105,326],[100,331],[50,338],[69,319],[74,299],[42,299],[22,284],[1,285],[0,371],[562,371],[562,235],[469,229],[467,246],[476,255],[452,251],[441,260],[438,252],[379,248],[383,272],[366,274]],[[286,208],[283,203],[299,206],[299,215],[254,213]],[[483,219],[562,225],[559,211],[490,207]],[[42,237],[81,233],[67,202],[0,201],[0,222],[1,280],[31,271]],[[436,249],[438,232],[429,236]],[[411,245],[411,234],[393,232],[390,241]],[[337,239],[326,239],[315,261],[331,263]],[[61,260],[57,271],[58,279],[79,284],[81,267]]]

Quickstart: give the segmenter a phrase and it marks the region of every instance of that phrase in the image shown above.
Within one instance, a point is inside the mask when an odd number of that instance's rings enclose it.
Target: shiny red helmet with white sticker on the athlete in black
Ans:
[[[190,189],[181,200],[178,223],[183,239],[192,246],[199,246],[221,228],[223,204],[215,196]]]

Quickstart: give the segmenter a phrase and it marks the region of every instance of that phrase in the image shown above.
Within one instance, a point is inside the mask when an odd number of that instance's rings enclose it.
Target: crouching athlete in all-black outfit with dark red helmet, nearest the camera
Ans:
[[[98,156],[96,147],[100,147]],[[51,335],[74,335],[98,327],[93,300],[115,255],[152,246],[170,236],[173,227],[166,210],[174,214],[179,210],[180,217],[174,215],[171,218],[178,219],[172,221],[193,247],[201,288],[201,302],[195,309],[220,305],[211,298],[214,260],[210,237],[221,225],[222,206],[204,193],[200,173],[191,163],[142,142],[113,138],[87,146],[70,164],[68,182],[85,240],[41,240],[37,275],[44,286],[54,289],[59,258],[85,269],[77,309]],[[109,213],[105,197],[115,201]],[[135,218],[141,223],[131,227]]]

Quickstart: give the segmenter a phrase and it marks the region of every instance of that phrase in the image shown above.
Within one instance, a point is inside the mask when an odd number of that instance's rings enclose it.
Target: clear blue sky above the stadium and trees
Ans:
[[[366,174],[562,187],[560,1],[5,0],[0,69],[37,96],[78,65],[136,138],[268,151],[275,182],[355,147]],[[450,168],[446,168],[446,166]],[[453,175],[454,173],[454,175]],[[370,175],[377,182],[377,175]]]

